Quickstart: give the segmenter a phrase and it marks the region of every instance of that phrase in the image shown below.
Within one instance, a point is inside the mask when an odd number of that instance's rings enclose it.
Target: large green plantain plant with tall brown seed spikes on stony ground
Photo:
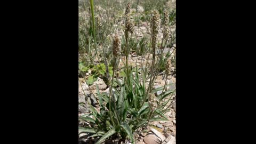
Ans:
[[[94,24],[94,6],[93,1],[91,2],[91,12],[93,21],[93,43],[96,44],[95,40],[95,24]],[[139,1],[138,1],[139,2]],[[108,46],[102,35],[102,25],[99,16],[96,17],[98,35],[103,49],[103,60],[104,63],[94,66],[94,74],[107,75],[109,92],[100,93],[98,85],[97,94],[95,97],[99,100],[100,110],[97,111],[93,106],[89,106],[90,114],[85,114],[79,119],[85,121],[88,126],[79,127],[79,132],[90,133],[89,137],[99,137],[96,144],[100,144],[109,138],[118,139],[119,142],[125,141],[127,138],[130,139],[131,143],[135,143],[134,133],[141,133],[146,129],[149,122],[153,121],[169,121],[164,115],[172,102],[168,103],[175,98],[172,97],[175,90],[166,90],[166,81],[164,86],[153,89],[156,77],[159,75],[159,71],[170,74],[171,60],[170,53],[167,53],[164,57],[163,50],[156,51],[157,48],[163,48],[170,42],[169,30],[169,14],[164,12],[164,28],[168,33],[165,32],[162,39],[161,46],[157,46],[157,35],[159,30],[159,12],[154,11],[151,15],[151,38],[149,44],[146,43],[146,39],[142,38],[139,43],[133,38],[133,27],[134,23],[130,16],[131,3],[127,4],[125,10],[125,34],[123,38],[120,38],[117,34],[113,38],[113,46]],[[168,20],[166,20],[168,18]],[[105,42],[105,43],[104,43]],[[123,42],[123,45],[121,44]],[[136,44],[139,44],[136,45]],[[121,49],[121,45],[123,46]],[[109,59],[108,48],[111,47],[111,54],[113,65],[108,66],[107,60]],[[94,47],[97,51],[97,47]],[[107,49],[107,50],[106,50]],[[146,58],[146,63],[142,63],[142,67],[132,67],[128,61],[129,53],[136,51],[138,54],[144,55],[146,52],[150,52],[153,55],[153,59],[149,62],[149,58]],[[106,52],[106,53],[105,53]],[[124,68],[119,70],[118,65],[121,54],[124,55],[123,61]],[[156,57],[158,55],[158,57]],[[97,55],[99,57],[99,55]],[[149,57],[149,56],[148,56]],[[99,58],[98,58],[99,59]],[[81,71],[86,71],[89,68],[80,66]],[[119,74],[122,71],[122,76]],[[85,77],[84,77],[85,78]],[[150,79],[149,84],[147,80]],[[86,82],[88,82],[89,78]],[[161,94],[156,92],[162,91]],[[171,97],[169,97],[171,95]],[[166,98],[169,98],[166,100]],[[167,107],[166,107],[167,106]]]

